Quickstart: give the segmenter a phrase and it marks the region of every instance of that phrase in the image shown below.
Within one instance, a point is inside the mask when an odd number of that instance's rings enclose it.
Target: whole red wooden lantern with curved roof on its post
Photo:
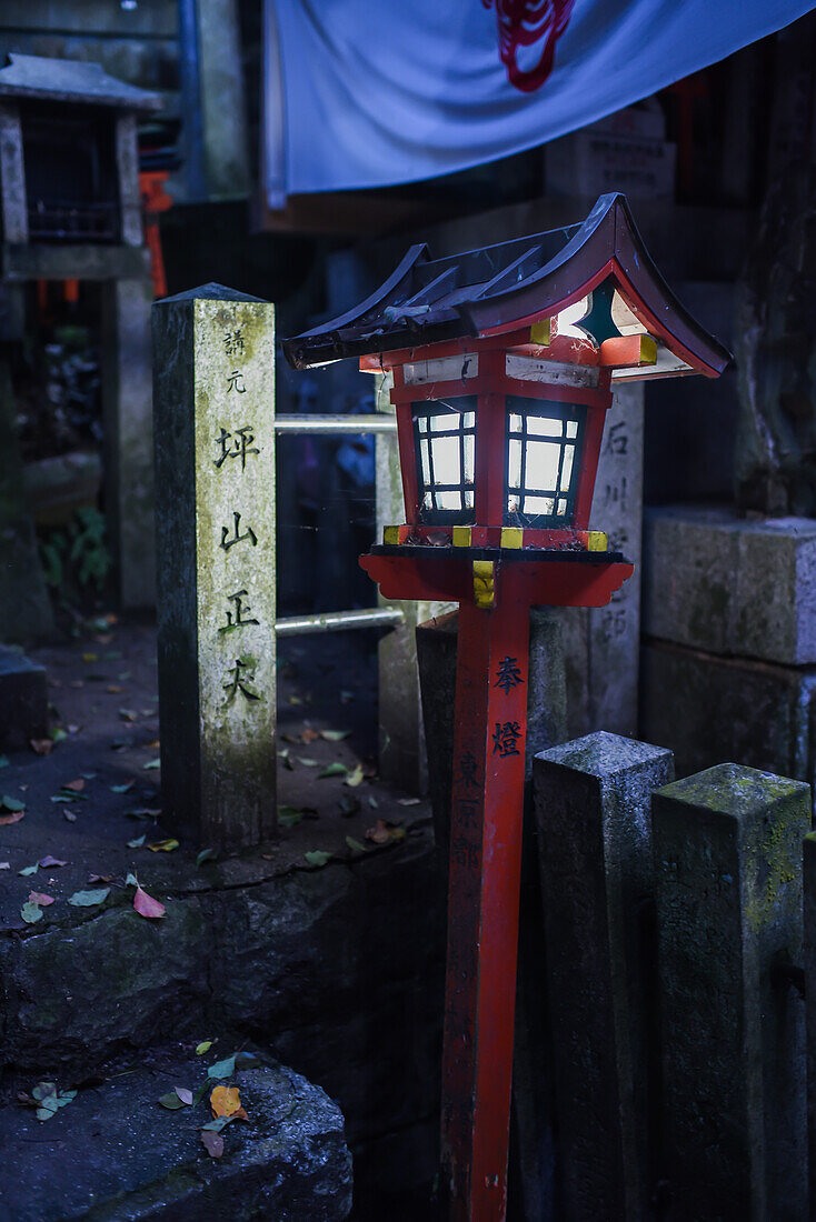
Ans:
[[[450,1217],[506,1210],[531,605],[603,606],[632,573],[588,529],[615,382],[728,352],[655,268],[623,196],[448,259],[412,247],[295,368],[393,374],[405,523],[361,565],[385,598],[459,604],[442,1100]]]

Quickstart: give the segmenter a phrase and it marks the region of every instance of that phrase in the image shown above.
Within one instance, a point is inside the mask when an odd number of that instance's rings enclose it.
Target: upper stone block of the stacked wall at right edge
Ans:
[[[712,654],[816,662],[816,519],[645,513],[644,631]]]

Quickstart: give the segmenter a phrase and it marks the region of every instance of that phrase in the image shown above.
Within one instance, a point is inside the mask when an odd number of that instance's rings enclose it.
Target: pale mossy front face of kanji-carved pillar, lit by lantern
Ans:
[[[195,362],[202,786],[257,843],[274,826],[274,307],[196,299]]]

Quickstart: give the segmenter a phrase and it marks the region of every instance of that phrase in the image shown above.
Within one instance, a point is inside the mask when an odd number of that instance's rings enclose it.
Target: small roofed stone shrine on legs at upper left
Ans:
[[[153,293],[136,122],[160,105],[98,64],[12,54],[0,66],[0,341],[22,338],[26,282],[103,284],[105,503],[125,606],[153,601]]]

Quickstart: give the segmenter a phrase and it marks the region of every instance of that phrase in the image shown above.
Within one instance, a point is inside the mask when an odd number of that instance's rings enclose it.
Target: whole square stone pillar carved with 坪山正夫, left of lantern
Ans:
[[[220,848],[275,830],[274,307],[153,307],[161,789]]]

